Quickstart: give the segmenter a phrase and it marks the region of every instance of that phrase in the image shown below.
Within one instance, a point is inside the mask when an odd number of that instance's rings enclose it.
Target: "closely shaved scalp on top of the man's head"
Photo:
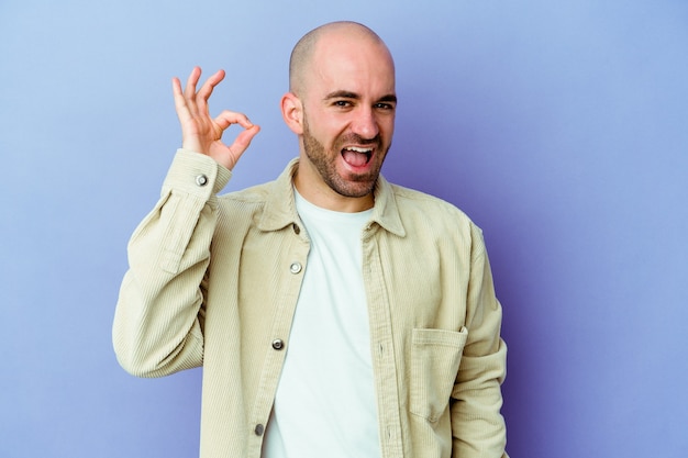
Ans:
[[[331,22],[313,29],[293,47],[289,59],[289,90],[301,96],[304,89],[307,75],[312,71],[312,63],[319,45],[332,41],[351,41],[356,45],[375,45],[385,49],[391,62],[391,54],[385,42],[370,29],[357,22]]]

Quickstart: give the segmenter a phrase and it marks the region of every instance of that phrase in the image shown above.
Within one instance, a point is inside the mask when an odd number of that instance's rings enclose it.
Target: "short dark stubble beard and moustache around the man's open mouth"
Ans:
[[[346,142],[358,144],[370,143],[352,134],[347,137],[337,138],[334,143],[334,150],[328,154],[324,145],[311,134],[306,115],[303,116],[303,150],[325,185],[340,196],[346,198],[363,198],[370,194],[375,189],[382,164],[373,168],[368,174],[349,175],[347,179],[343,178],[336,170],[336,156],[340,155],[340,150],[337,150],[336,147]],[[379,139],[376,139],[375,143],[378,147],[376,154],[384,154],[386,156],[387,152],[380,152]]]

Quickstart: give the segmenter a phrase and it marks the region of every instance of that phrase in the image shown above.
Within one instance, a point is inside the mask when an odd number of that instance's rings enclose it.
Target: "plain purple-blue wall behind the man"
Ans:
[[[400,98],[385,166],[484,230],[513,458],[688,456],[688,3],[0,3],[0,456],[197,455],[200,370],[141,380],[110,326],[127,238],[180,144],[173,76],[263,127],[228,190],[296,155],[304,32],[367,23]]]

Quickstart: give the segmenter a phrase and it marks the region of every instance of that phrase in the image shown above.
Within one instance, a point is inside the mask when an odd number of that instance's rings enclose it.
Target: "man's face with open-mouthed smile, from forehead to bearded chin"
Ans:
[[[370,194],[395,129],[395,69],[387,49],[323,41],[304,88],[301,161],[307,164],[299,174],[346,198]]]

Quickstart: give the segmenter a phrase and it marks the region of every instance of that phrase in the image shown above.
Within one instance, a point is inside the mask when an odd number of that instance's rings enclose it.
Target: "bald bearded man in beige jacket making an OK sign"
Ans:
[[[500,304],[479,228],[387,182],[393,62],[369,29],[325,24],[290,60],[299,157],[218,197],[259,127],[209,116],[224,77],[174,79],[182,148],[130,242],[121,365],[203,366],[201,457],[502,457]],[[222,133],[244,130],[232,145]],[[460,362],[460,366],[459,366]]]

